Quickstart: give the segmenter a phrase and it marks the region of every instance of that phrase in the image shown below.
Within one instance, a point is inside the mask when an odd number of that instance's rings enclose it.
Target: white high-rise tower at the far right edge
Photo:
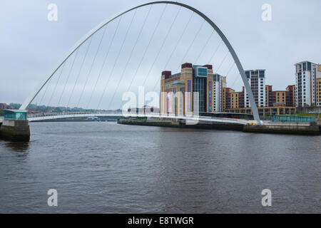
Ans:
[[[321,69],[316,63],[303,61],[295,64],[295,105],[317,105],[317,78]]]

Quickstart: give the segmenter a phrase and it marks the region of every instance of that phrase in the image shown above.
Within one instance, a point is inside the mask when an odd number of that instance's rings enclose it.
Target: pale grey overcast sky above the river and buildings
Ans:
[[[91,30],[91,28],[101,23],[104,19],[120,13],[124,9],[128,9],[130,6],[136,6],[144,2],[146,1],[1,1],[0,103],[23,103],[24,99],[29,93],[34,91],[36,86],[39,85],[39,82],[48,75],[51,68],[55,66],[66,51]],[[285,90],[287,85],[295,83],[295,68],[293,66],[295,63],[299,61],[321,63],[320,0],[182,0],[181,2],[202,11],[203,14],[207,15],[218,25],[232,44],[245,69],[266,69],[266,83],[272,85],[275,90]],[[58,6],[58,21],[49,21],[47,19],[47,14],[49,13],[47,7],[51,3]],[[263,4],[270,4],[272,6],[272,21],[263,21],[261,19],[261,14],[263,13],[261,6]],[[125,66],[126,63],[128,63],[128,66],[123,73],[123,81],[128,81],[130,80],[129,78],[133,76],[133,72],[136,71],[136,66],[138,66],[140,59],[143,57],[143,50],[145,50],[151,38],[153,28],[155,28],[163,9],[164,6],[161,5],[151,9],[148,22],[146,23],[146,29],[143,30],[142,37],[139,39],[133,51],[133,56],[129,59],[132,50],[131,47],[133,47],[136,37],[138,37],[138,32],[141,29],[143,20],[148,14],[149,6],[146,7],[146,9],[138,9],[136,17],[133,20],[133,25],[129,30],[128,39],[126,39],[126,44],[118,59],[119,63],[117,62],[116,64],[113,77],[121,77],[123,66]],[[190,11],[186,9],[181,9],[180,12],[178,12],[178,10],[180,10],[178,6],[169,6],[165,9],[161,26],[151,42],[151,51],[148,51],[146,59],[143,59],[141,68],[138,69],[140,76],[148,75],[149,78],[146,85],[150,86],[151,90],[161,75],[162,70],[170,70],[175,73],[179,68],[180,61],[194,63],[193,61],[197,60],[198,62],[195,64],[206,64],[220,43],[217,34],[210,36],[212,30],[210,26],[205,24],[202,29],[200,29],[198,36],[196,36],[193,47],[188,51],[185,58],[183,58],[198,28],[202,25],[202,19],[198,16],[193,16],[188,26],[188,31],[185,33],[185,38],[182,39],[179,46],[175,46],[189,16],[191,16]],[[131,14],[123,16],[122,18],[118,33],[116,34],[116,41],[111,48],[108,63],[106,63],[106,72],[111,72],[113,68],[113,60],[117,56],[133,14],[134,12],[131,12]],[[175,24],[173,24],[168,38],[165,39],[168,28],[176,15],[178,15],[177,20]],[[96,62],[93,64],[93,70],[91,72],[92,80],[89,79],[87,85],[89,88],[85,89],[84,97],[91,96],[90,88],[95,84],[99,66],[103,63],[104,53],[108,49],[108,43],[111,42],[117,22],[118,21],[113,21],[113,23],[106,28],[106,35],[101,45],[101,52],[98,53]],[[88,52],[88,62],[85,63],[86,66],[83,68],[84,72],[88,72],[88,68],[91,66],[90,57],[93,58],[95,56],[95,51],[101,36],[102,31],[101,33],[97,33],[96,37],[93,37],[93,43]],[[162,46],[164,39],[165,44]],[[208,43],[206,43],[207,41]],[[84,43],[84,45],[87,44],[88,43]],[[201,50],[205,44],[205,51],[200,55],[200,58],[198,58],[198,50]],[[86,46],[81,48],[79,49],[79,60],[76,59],[76,64],[78,63],[79,66],[81,63],[80,56],[86,52]],[[161,48],[159,56],[158,48]],[[166,64],[166,60],[168,60],[168,56],[170,56],[174,48],[176,48],[175,53],[170,59],[170,63]],[[220,66],[225,53],[225,46],[220,46],[219,51],[215,54],[215,58],[213,58],[213,62],[211,62],[214,66],[214,71]],[[155,59],[156,63],[153,64],[156,56],[158,56],[158,58]],[[68,60],[70,63],[69,65],[66,63],[66,67],[71,66],[71,60],[71,58]],[[231,63],[233,64],[233,61],[230,56],[228,56],[218,73],[225,75],[229,72],[228,86],[240,90],[242,81],[236,68],[230,68],[230,66],[232,66],[230,65]],[[151,66],[153,67],[151,68]],[[165,66],[166,68],[163,69]],[[74,79],[71,78],[70,86],[66,87],[66,91],[69,92],[73,90],[73,80],[76,80],[76,72],[78,72],[76,66],[74,73],[73,71],[71,72]],[[67,74],[68,73],[66,73],[66,75]],[[105,83],[103,81],[106,78],[105,75],[108,75],[108,73],[103,73],[101,77],[102,81],[98,81],[97,94],[95,91],[93,100],[99,100],[100,95],[98,95],[98,92],[101,93],[103,91],[103,86],[101,85]],[[83,78],[86,78],[86,73],[83,73]],[[136,90],[137,86],[143,84],[143,78],[144,76],[141,76],[137,82],[133,83],[134,87],[132,90]],[[55,84],[54,80],[53,78],[53,82],[51,83],[52,87],[54,87]],[[56,80],[58,81],[57,77]],[[81,80],[80,78],[78,82],[86,83],[86,81]],[[111,88],[115,88],[118,85],[117,81],[113,81],[113,83],[114,84],[111,84]],[[127,86],[123,86],[124,83],[122,81],[120,84],[120,88],[126,90]],[[111,88],[107,89],[106,95],[113,95]],[[76,87],[74,95],[81,94],[81,90],[81,87]],[[56,97],[58,96],[57,92]],[[116,96],[121,96],[121,93],[117,92]],[[62,99],[65,99],[64,103],[68,102],[67,93],[66,98]],[[48,98],[48,100],[50,100],[50,98]],[[56,101],[54,102],[56,103]],[[77,98],[71,102],[77,104]],[[87,101],[84,101],[83,104],[86,103]],[[114,105],[113,108],[115,108]]]

